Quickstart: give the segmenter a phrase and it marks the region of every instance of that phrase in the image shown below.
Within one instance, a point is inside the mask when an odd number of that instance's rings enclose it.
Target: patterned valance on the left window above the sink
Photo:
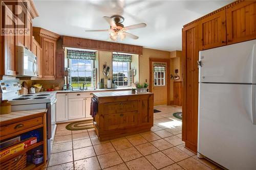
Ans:
[[[95,52],[68,50],[67,58],[82,59],[82,60],[95,60]]]

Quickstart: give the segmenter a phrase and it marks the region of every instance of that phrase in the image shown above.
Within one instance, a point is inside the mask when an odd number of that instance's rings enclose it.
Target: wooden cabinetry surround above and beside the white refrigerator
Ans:
[[[199,51],[252,39],[256,1],[235,1],[183,26],[182,140],[187,149],[197,152]]]

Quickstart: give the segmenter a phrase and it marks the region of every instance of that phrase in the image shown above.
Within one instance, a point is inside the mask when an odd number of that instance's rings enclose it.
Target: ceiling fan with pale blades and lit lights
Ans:
[[[113,41],[117,41],[118,37],[120,37],[120,40],[123,40],[126,36],[133,38],[133,39],[138,39],[139,38],[138,36],[128,33],[126,31],[146,27],[145,23],[138,23],[136,25],[124,27],[122,25],[124,18],[120,15],[113,15],[111,17],[103,16],[103,18],[110,24],[110,29],[108,29],[108,30],[86,30],[86,32],[109,32],[110,39]]]

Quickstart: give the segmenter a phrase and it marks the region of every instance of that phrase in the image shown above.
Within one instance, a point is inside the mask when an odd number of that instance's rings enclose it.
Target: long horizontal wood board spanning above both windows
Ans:
[[[63,47],[86,48],[92,50],[112,51],[121,53],[132,53],[142,55],[142,46],[121,44],[115,42],[99,41],[86,38],[70,36],[62,37]]]

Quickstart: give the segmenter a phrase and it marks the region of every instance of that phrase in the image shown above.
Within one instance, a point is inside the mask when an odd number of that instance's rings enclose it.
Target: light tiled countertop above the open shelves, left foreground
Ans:
[[[22,111],[15,111],[8,114],[0,114],[0,123],[4,122],[5,120],[11,120],[15,118],[20,118],[24,116],[31,116],[38,113],[44,113],[47,109],[34,109],[34,110],[22,110]]]

